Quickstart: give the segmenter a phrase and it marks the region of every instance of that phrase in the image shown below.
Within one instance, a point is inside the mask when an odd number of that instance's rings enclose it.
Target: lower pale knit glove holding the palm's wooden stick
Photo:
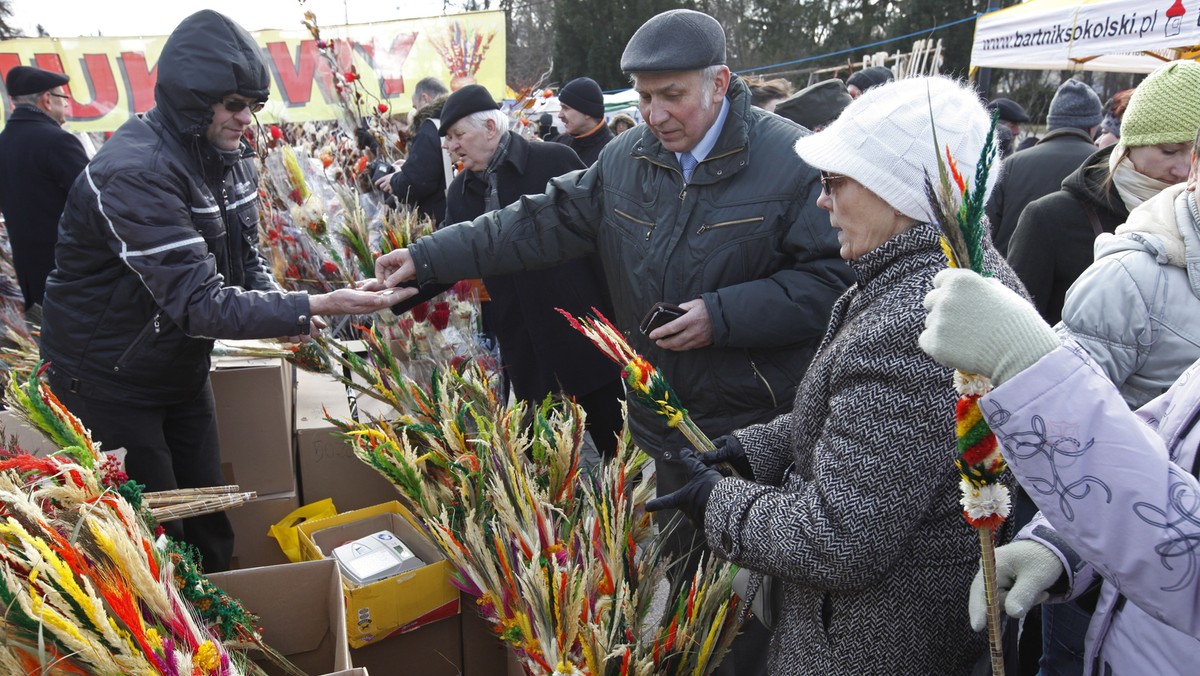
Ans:
[[[1046,590],[1062,576],[1062,562],[1050,548],[1034,540],[1016,540],[996,548],[996,593],[1009,617],[1021,618],[1031,608],[1044,602]],[[983,569],[971,582],[967,602],[971,628],[983,632],[988,626],[988,596],[983,587]]]

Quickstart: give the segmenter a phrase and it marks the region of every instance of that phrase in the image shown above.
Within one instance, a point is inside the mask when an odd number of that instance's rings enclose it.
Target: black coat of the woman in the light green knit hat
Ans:
[[[1067,289],[1094,259],[1096,231],[1090,211],[1106,233],[1129,219],[1116,186],[1108,180],[1114,148],[1110,145],[1088,157],[1062,181],[1058,192],[1031,202],[1021,211],[1008,244],[1008,264],[1050,324],[1062,319]]]

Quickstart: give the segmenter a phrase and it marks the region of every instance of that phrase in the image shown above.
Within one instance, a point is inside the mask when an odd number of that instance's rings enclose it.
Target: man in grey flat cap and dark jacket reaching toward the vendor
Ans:
[[[716,439],[770,421],[792,409],[833,303],[853,280],[816,207],[818,174],[792,151],[808,132],[750,104],[726,66],[725,31],[708,14],[653,17],[620,66],[646,124],[613,139],[587,171],[551,180],[545,195],[382,256],[378,283],[446,283],[599,253],[612,321],[666,373],[704,433]],[[643,334],[643,317],[664,301],[682,316]],[[655,457],[660,496],[696,486],[686,490],[695,499],[677,496],[674,507],[702,515],[709,493],[715,504],[718,492],[680,459],[678,431],[637,406],[629,425]],[[762,469],[763,481],[778,481],[782,468]],[[659,514],[683,521],[674,509]],[[691,551],[694,536],[703,544],[712,515],[698,530],[677,528],[673,551]],[[746,652],[761,663],[767,651],[760,642]],[[734,660],[739,675],[761,670]]]

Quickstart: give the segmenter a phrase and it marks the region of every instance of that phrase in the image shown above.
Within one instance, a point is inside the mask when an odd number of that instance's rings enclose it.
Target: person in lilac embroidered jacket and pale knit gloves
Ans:
[[[1195,674],[1200,664],[1200,361],[1130,412],[1074,342],[995,280],[944,270],[920,347],[989,376],[983,411],[1042,510],[996,550],[1010,617],[1100,584],[1085,674]],[[983,626],[983,590],[972,623]]]

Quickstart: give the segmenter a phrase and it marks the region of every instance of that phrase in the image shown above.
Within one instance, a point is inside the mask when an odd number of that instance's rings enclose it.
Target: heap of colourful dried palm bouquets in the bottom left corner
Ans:
[[[62,450],[0,453],[0,672],[262,674],[253,648],[299,674],[204,578],[193,550],[156,539],[140,486],[36,375],[11,376],[6,401]]]

